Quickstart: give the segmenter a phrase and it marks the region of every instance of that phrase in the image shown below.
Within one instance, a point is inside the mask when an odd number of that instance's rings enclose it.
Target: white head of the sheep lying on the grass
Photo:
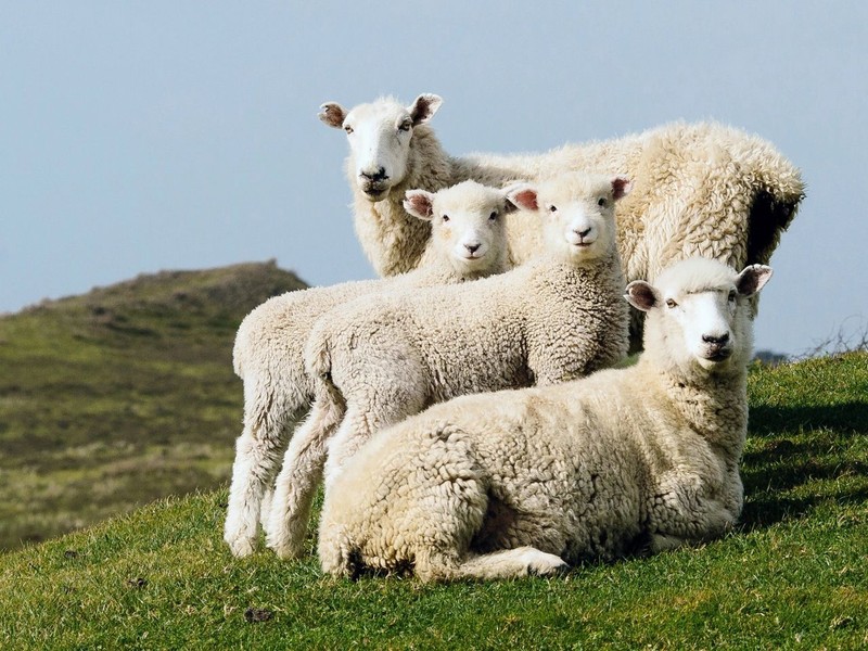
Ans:
[[[736,273],[723,263],[691,258],[664,270],[654,285],[637,280],[626,298],[646,319],[646,354],[689,371],[743,368],[753,348],[748,302],[771,277],[765,265]]]

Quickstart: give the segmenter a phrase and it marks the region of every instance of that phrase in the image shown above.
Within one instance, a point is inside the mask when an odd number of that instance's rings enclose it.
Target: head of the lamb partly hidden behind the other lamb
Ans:
[[[503,217],[515,205],[506,192],[464,181],[436,193],[409,190],[404,208],[432,222],[432,243],[464,273],[482,272],[500,263],[507,252]]]

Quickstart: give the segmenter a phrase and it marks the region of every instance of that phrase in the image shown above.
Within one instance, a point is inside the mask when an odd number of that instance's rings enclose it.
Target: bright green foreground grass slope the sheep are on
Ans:
[[[221,488],[0,557],[0,647],[864,649],[868,354],[756,366],[750,395],[723,540],[556,579],[352,583],[232,559]]]

